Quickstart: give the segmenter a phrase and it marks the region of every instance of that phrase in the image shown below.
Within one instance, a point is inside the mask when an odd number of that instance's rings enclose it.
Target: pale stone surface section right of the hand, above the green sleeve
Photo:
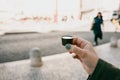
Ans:
[[[118,47],[111,47],[110,43],[95,47],[98,56],[116,67],[120,68],[120,40],[118,40]]]

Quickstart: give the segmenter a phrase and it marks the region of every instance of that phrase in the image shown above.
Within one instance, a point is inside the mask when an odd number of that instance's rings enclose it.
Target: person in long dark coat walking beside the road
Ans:
[[[91,27],[91,30],[93,30],[93,33],[94,33],[95,45],[98,45],[98,38],[99,39],[103,38],[101,24],[103,24],[103,17],[102,17],[102,13],[98,12],[97,16],[94,18],[94,21],[93,21],[92,27]],[[103,26],[104,26],[104,24],[103,24]]]

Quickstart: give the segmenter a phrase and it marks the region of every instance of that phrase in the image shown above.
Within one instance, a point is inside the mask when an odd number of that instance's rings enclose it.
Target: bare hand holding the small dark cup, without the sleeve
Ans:
[[[80,60],[89,75],[93,73],[99,58],[90,42],[74,38],[73,45],[70,45],[68,51],[75,54],[74,58]]]

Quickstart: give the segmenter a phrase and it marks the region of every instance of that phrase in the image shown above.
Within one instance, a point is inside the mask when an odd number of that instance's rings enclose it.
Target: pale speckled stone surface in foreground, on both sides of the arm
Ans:
[[[98,56],[120,68],[118,48],[105,44],[95,47]],[[30,67],[29,60],[0,64],[0,80],[86,80],[87,73],[80,62],[69,53],[43,57],[43,66]]]

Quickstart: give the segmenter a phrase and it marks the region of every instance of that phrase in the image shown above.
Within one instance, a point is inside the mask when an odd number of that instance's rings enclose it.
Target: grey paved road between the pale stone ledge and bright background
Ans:
[[[66,52],[61,45],[62,35],[73,35],[83,37],[93,42],[92,32],[51,32],[51,33],[29,33],[29,34],[11,34],[0,37],[0,63],[28,59],[29,51],[33,47],[39,47],[42,56],[53,55]],[[120,33],[104,32],[104,37],[100,44],[110,41],[110,38],[116,35],[120,38]]]

